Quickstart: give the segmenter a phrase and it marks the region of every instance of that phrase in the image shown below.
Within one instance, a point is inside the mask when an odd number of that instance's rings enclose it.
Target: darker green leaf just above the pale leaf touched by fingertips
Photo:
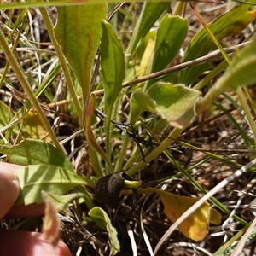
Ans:
[[[9,162],[13,164],[21,166],[47,164],[73,172],[73,166],[66,156],[43,141],[26,139],[15,146],[2,146],[0,152],[7,154]]]

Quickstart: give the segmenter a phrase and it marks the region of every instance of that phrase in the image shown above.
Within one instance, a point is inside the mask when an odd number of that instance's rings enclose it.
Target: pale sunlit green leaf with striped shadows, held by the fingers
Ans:
[[[20,180],[20,195],[16,204],[43,202],[42,190],[51,195],[63,195],[68,189],[87,184],[84,178],[58,166],[26,166],[17,170],[16,174]]]

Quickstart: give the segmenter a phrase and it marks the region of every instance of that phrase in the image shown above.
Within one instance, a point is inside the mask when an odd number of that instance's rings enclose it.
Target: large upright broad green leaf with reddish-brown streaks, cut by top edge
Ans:
[[[91,66],[102,36],[101,22],[106,18],[106,3],[59,6],[57,10],[55,37],[87,98]]]

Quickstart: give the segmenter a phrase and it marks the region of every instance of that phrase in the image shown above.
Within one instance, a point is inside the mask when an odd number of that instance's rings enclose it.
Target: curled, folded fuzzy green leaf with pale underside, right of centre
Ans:
[[[183,84],[156,83],[151,85],[147,93],[137,90],[131,97],[131,125],[136,121],[138,113],[148,110],[160,113],[171,125],[186,127],[195,117],[195,103],[201,92],[189,89]]]

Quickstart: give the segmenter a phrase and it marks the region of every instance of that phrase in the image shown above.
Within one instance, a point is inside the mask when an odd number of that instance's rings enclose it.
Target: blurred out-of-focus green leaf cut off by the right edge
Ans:
[[[234,89],[243,84],[256,82],[256,37],[244,49],[238,51],[224,75],[215,86],[221,90]]]

